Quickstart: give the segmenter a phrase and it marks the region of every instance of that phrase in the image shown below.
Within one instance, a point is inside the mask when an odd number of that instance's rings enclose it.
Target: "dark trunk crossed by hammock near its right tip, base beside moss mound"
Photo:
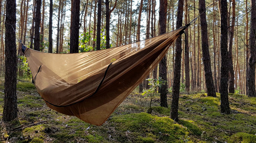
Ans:
[[[178,10],[177,10],[177,22],[176,29],[182,26],[182,14],[183,14],[183,0],[178,0]],[[179,99],[179,87],[180,87],[180,64],[181,64],[181,36],[179,36],[175,43],[176,46],[176,58],[174,65],[174,83],[173,83],[173,100],[171,105],[170,117],[178,121],[178,99]]]

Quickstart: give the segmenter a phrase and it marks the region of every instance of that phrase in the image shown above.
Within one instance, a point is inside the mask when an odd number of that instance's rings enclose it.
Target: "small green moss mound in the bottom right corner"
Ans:
[[[238,132],[228,138],[228,143],[256,143],[256,135]]]

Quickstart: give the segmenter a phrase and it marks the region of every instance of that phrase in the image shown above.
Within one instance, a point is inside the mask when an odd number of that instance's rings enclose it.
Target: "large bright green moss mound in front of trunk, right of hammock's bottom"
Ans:
[[[150,133],[162,142],[179,142],[189,134],[187,128],[174,124],[168,117],[158,117],[144,112],[115,116],[111,121],[122,131],[138,132],[142,137]]]

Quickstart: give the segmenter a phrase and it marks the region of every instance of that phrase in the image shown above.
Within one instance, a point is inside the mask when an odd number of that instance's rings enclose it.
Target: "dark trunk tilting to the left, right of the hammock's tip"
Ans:
[[[208,46],[208,33],[207,33],[207,22],[205,11],[205,0],[199,0],[199,13],[200,13],[200,25],[201,25],[201,40],[202,40],[202,54],[203,54],[203,64],[204,64],[204,75],[205,83],[207,88],[207,95],[216,97],[216,92],[214,88],[213,74],[211,68],[211,60],[209,54]]]

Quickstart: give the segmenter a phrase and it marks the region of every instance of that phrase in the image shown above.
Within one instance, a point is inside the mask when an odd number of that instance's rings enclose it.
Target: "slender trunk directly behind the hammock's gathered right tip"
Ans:
[[[187,25],[187,24],[188,24],[188,0],[185,0],[185,25]],[[189,92],[189,88],[190,88],[190,75],[189,75],[188,29],[185,30],[185,34],[186,34],[186,36],[185,36],[185,56],[184,56],[184,62],[185,62],[185,88],[186,88],[186,91]],[[191,67],[191,70],[192,70],[192,67]],[[191,84],[193,84],[193,82]]]

